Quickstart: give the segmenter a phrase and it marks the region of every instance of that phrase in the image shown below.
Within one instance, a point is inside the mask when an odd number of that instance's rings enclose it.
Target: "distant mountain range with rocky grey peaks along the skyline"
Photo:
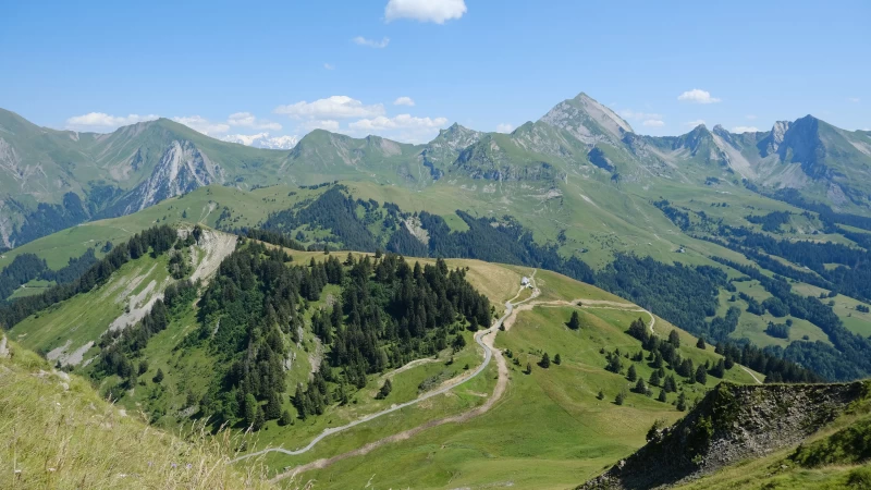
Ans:
[[[413,189],[480,183],[483,191],[491,183],[548,186],[579,177],[655,192],[723,183],[771,194],[796,189],[808,203],[871,211],[871,132],[811,115],[768,132],[699,125],[654,137],[635,133],[580,94],[511,134],[454,124],[424,145],[322,130],[298,142],[266,133],[246,138],[222,142],[167,119],[111,134],[56,131],[0,110],[0,245],[127,215],[210,184],[249,189],[354,180]]]

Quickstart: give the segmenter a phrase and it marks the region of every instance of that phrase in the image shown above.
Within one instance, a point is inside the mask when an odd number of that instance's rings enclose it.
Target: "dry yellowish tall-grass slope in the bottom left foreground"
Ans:
[[[271,488],[256,464],[226,464],[232,438],[155,429],[78,376],[9,347],[0,355],[0,487]]]

